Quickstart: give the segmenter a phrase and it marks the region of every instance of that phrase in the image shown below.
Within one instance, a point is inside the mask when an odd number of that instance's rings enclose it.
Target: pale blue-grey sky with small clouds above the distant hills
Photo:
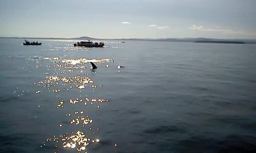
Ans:
[[[0,37],[256,38],[256,0],[0,0]]]

